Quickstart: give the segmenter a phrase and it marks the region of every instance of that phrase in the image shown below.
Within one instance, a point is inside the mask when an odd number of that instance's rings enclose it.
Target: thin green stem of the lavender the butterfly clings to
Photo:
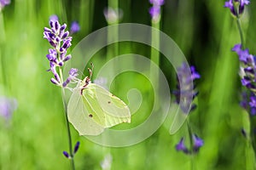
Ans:
[[[61,67],[59,67],[59,73],[60,73],[60,77],[61,77],[61,82],[63,82]],[[68,118],[67,118],[67,101],[65,99],[65,89],[64,88],[61,88],[61,96],[62,96],[64,111],[65,111],[66,125],[67,125],[67,137],[68,137],[69,154],[70,154],[70,160],[71,160],[70,163],[71,163],[72,169],[75,170],[74,159],[73,159],[73,144],[72,144],[70,126],[69,126],[69,122],[68,122]]]

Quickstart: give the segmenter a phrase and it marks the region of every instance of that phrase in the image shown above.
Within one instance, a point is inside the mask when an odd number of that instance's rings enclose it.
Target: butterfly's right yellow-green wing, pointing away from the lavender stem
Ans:
[[[83,90],[86,102],[93,110],[92,119],[103,127],[113,127],[122,122],[131,122],[131,113],[127,105],[105,88],[90,83]]]

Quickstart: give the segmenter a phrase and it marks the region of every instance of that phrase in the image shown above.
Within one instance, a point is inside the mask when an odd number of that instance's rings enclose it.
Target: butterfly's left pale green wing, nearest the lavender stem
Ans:
[[[91,116],[95,113],[92,113],[91,106],[80,92],[79,87],[73,89],[67,105],[68,121],[73,124],[79,135],[99,135],[104,131],[104,127],[92,119]]]

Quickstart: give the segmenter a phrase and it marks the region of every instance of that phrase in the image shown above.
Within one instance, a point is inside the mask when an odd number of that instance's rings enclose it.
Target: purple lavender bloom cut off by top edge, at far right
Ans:
[[[230,8],[231,14],[234,14],[236,17],[239,17],[239,15],[243,13],[245,5],[248,5],[249,3],[249,0],[234,0],[234,2],[233,0],[229,0],[225,2],[224,8]]]

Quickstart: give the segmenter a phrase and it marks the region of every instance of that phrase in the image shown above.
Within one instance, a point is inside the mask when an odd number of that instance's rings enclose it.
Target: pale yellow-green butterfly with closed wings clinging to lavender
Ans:
[[[93,65],[90,77],[93,71]],[[85,77],[73,88],[67,105],[68,121],[79,132],[79,135],[99,135],[107,127],[123,122],[131,122],[129,107],[105,88],[90,82]]]

